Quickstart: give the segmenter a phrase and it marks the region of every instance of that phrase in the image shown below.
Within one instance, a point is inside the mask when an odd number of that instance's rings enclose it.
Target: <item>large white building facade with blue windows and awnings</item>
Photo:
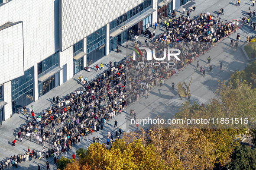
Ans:
[[[181,0],[0,0],[0,124],[180,5]]]

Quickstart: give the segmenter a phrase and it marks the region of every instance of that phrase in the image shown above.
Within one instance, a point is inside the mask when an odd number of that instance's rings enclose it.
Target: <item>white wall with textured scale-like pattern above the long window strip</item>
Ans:
[[[60,0],[61,50],[71,47],[143,0]]]

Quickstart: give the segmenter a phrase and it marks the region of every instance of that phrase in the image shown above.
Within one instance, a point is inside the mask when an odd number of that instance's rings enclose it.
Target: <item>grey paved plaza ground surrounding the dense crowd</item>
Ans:
[[[217,16],[217,10],[224,8],[224,15],[221,15],[222,20],[230,21],[232,19],[241,19],[244,16],[247,17],[246,12],[248,8],[251,7],[251,1],[241,1],[240,6],[235,6],[234,3],[224,0],[195,0],[194,5],[196,6],[196,11],[192,11],[191,19],[197,18],[200,13],[211,13],[214,16]],[[189,2],[190,3],[190,2]],[[190,7],[190,6],[189,6]],[[252,8],[252,10],[254,10]],[[181,12],[182,11],[182,12]],[[179,9],[177,17],[183,14],[183,10]],[[252,21],[255,22],[256,19],[252,18]],[[152,31],[153,28],[150,28]],[[165,28],[156,29],[156,37],[161,35],[165,31]],[[238,49],[235,50],[230,47],[230,39],[235,40],[236,35],[241,36],[241,41],[239,42]],[[191,102],[197,101],[198,103],[207,104],[211,98],[215,97],[215,90],[218,86],[218,81],[227,81],[230,76],[233,74],[233,70],[237,68],[240,70],[245,69],[246,59],[241,47],[246,43],[247,36],[255,35],[255,31],[250,28],[250,26],[243,25],[237,33],[233,33],[228,38],[217,43],[217,46],[212,47],[210,51],[206,52],[204,55],[198,59],[200,65],[206,68],[206,74],[203,77],[199,72],[199,68],[196,68],[196,61],[189,66],[186,66],[184,69],[181,69],[178,73],[178,76],[172,76],[170,79],[165,80],[163,87],[156,86],[150,91],[150,96],[148,99],[141,98],[139,101],[135,102],[129,107],[126,107],[121,115],[116,116],[114,119],[106,123],[103,130],[100,130],[98,133],[94,132],[93,135],[89,135],[89,143],[92,143],[93,136],[100,138],[100,143],[106,142],[107,132],[110,130],[111,133],[115,134],[115,130],[121,127],[123,132],[130,132],[136,130],[136,125],[130,124],[130,108],[134,109],[136,115],[139,119],[145,118],[155,118],[156,116],[164,117],[165,119],[170,119],[175,116],[175,113],[178,111],[178,108],[181,106],[182,101],[180,101],[177,95],[177,85],[178,82],[186,82],[189,84],[191,79],[191,74],[193,73],[193,79],[191,83],[190,93],[191,93]],[[155,38],[156,38],[155,37]],[[147,37],[140,36],[138,39],[144,44],[144,41]],[[136,40],[137,41],[137,40]],[[78,77],[82,75],[87,77],[88,81],[93,80],[94,78],[100,76],[104,70],[107,70],[109,67],[109,62],[120,61],[126,57],[126,54],[131,54],[133,52],[132,46],[134,42],[129,41],[129,49],[125,48],[125,44],[120,47],[122,48],[122,54],[117,54],[115,51],[111,51],[109,55],[98,60],[97,63],[93,63],[91,67],[91,72],[81,71],[74,76],[73,79],[68,80],[63,85],[60,85],[52,89],[49,93],[43,95],[39,98],[38,101],[31,103],[27,107],[30,108],[31,105],[35,108],[35,113],[42,113],[42,110],[48,109],[49,106],[52,106],[53,96],[59,96],[62,99],[64,96],[69,94],[72,91],[81,87],[81,83],[78,81]],[[207,64],[207,57],[211,56],[211,64],[213,65],[213,71],[210,72]],[[220,62],[222,61],[223,67],[220,69]],[[104,70],[96,72],[95,65],[104,63]],[[248,62],[247,62],[248,64]],[[175,83],[175,89],[172,90],[171,83]],[[185,101],[185,100],[184,100]],[[31,118],[30,118],[31,119]],[[114,120],[117,120],[118,127],[113,129]],[[36,145],[34,142],[29,140],[23,140],[23,143],[17,140],[16,147],[11,146],[11,142],[15,139],[17,132],[19,131],[20,125],[26,123],[25,116],[22,113],[14,114],[10,119],[3,122],[3,125],[0,126],[0,158],[5,160],[14,154],[24,154],[24,151],[27,151],[29,147],[35,149],[36,151],[42,150],[41,145]],[[149,128],[149,126],[142,126],[142,128]],[[87,147],[88,142],[87,138],[82,140],[79,144],[71,149],[68,153],[68,158],[71,158],[71,155],[75,153],[77,148]],[[45,146],[48,147],[48,146]],[[62,154],[61,156],[64,156]],[[59,158],[61,156],[58,156]],[[50,162],[50,170],[56,169],[53,165],[52,157],[47,161]],[[41,166],[41,170],[46,169],[46,159],[38,160],[32,159],[30,162],[23,162],[18,165],[20,170],[35,170],[37,165]],[[11,168],[9,168],[11,169]]]

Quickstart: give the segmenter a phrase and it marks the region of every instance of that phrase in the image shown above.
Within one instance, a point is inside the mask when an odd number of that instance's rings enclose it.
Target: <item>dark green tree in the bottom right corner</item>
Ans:
[[[237,146],[228,165],[230,170],[256,170],[256,150],[249,146]]]

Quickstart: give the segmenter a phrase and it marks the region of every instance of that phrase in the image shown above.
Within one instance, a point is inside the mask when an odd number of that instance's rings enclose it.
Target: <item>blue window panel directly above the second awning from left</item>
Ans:
[[[52,71],[52,69],[55,69],[57,66],[59,66],[59,52],[56,52],[37,64],[38,78]]]

